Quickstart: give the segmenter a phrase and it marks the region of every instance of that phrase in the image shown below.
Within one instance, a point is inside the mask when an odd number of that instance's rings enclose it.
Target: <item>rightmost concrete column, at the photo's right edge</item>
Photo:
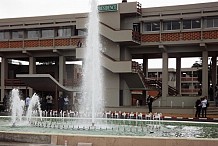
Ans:
[[[212,86],[213,97],[215,97],[215,86],[217,84],[217,56],[212,57]]]

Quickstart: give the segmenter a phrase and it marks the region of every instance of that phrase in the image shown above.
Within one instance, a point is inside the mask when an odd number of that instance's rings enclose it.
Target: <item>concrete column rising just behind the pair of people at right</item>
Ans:
[[[202,96],[208,96],[208,51],[202,52]]]

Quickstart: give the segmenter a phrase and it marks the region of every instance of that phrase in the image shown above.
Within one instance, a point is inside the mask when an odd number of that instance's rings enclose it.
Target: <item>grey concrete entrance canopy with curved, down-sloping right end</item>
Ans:
[[[39,91],[75,92],[77,90],[61,85],[50,74],[17,74],[27,86]]]

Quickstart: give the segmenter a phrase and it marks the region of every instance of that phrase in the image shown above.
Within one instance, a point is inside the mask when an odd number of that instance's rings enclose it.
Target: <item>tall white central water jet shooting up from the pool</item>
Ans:
[[[82,97],[79,112],[82,117],[91,117],[95,123],[97,114],[103,112],[103,74],[101,70],[101,51],[99,41],[99,16],[97,0],[91,0],[88,21],[88,37],[83,67]]]

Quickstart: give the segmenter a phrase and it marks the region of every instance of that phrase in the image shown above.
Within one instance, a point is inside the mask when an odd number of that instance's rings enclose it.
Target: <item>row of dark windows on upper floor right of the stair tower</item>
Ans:
[[[218,27],[218,17],[210,17],[205,20],[190,19],[190,20],[173,20],[173,21],[160,21],[144,23],[144,31],[160,31],[161,25],[163,30],[180,30],[180,29],[196,29],[201,28],[202,24],[206,28]]]

